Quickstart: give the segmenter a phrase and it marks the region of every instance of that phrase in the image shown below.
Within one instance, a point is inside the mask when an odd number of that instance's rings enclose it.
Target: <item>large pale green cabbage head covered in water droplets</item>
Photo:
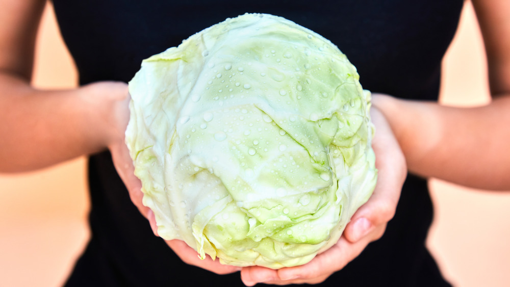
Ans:
[[[267,14],[142,62],[126,144],[159,236],[273,269],[335,244],[376,181],[370,93],[320,35]]]

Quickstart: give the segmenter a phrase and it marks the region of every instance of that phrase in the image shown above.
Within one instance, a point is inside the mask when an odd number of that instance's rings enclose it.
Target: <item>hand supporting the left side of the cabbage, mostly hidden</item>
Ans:
[[[136,205],[140,213],[148,219],[152,231],[156,236],[158,236],[156,218],[150,208],[142,203],[142,182],[134,174],[135,168],[133,166],[133,160],[131,159],[129,149],[127,149],[127,146],[124,143],[124,131],[127,126],[127,122],[129,121],[128,107],[130,100],[130,96],[127,94],[127,91],[125,93],[125,99],[119,102],[119,108],[116,111],[116,117],[119,123],[118,128],[121,136],[116,137],[116,139],[109,145],[109,149],[112,154],[115,168],[124,182],[131,200]],[[222,265],[219,263],[218,259],[213,260],[209,256],[207,256],[206,259],[201,260],[198,257],[198,253],[193,248],[189,247],[184,241],[168,240],[166,243],[186,264],[197,266],[217,274],[228,274],[240,270],[239,267]]]

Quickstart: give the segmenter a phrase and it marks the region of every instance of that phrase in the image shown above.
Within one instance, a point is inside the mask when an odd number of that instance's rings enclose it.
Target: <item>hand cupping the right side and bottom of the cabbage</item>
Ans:
[[[395,213],[407,169],[404,156],[384,116],[372,107],[371,117],[376,127],[372,147],[378,169],[377,185],[370,199],[353,215],[339,241],[302,266],[279,270],[245,267],[241,270],[244,284],[320,283],[344,268],[370,242],[382,236],[386,224]]]

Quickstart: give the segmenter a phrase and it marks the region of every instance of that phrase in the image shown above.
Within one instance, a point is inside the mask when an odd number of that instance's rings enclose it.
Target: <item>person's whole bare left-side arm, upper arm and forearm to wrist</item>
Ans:
[[[65,91],[30,86],[44,0],[2,0],[0,172],[46,167],[123,137],[127,88],[104,82]]]

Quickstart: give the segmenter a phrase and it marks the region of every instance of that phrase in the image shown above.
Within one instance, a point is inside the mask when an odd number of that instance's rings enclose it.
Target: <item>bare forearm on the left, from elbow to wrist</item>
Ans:
[[[41,91],[0,73],[0,171],[38,169],[105,149],[121,136],[117,110],[126,95],[120,83]]]

